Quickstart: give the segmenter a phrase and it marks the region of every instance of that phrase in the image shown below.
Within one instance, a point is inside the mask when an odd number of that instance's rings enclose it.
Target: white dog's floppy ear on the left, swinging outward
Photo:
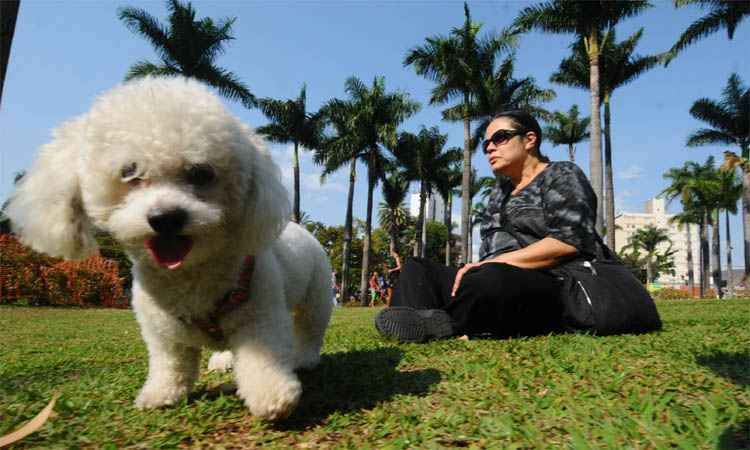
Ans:
[[[78,179],[84,122],[74,119],[53,132],[5,210],[21,242],[50,256],[80,259],[96,251]]]

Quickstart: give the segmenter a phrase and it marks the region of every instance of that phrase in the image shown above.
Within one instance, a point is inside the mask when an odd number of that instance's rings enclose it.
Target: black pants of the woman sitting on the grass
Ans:
[[[562,329],[562,283],[549,272],[487,263],[466,272],[451,297],[458,269],[408,258],[391,306],[443,309],[458,335],[533,336]]]

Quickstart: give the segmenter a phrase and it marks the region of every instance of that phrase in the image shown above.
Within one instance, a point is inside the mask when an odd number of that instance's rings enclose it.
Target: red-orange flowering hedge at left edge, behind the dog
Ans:
[[[0,304],[128,306],[116,261],[50,258],[9,234],[0,235],[0,255]]]

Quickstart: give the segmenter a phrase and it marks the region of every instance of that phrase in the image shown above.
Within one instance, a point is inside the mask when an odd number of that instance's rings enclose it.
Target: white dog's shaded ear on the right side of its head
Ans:
[[[245,225],[247,245],[255,253],[281,234],[289,223],[292,207],[289,193],[281,183],[281,172],[263,140],[247,131],[252,157]]]

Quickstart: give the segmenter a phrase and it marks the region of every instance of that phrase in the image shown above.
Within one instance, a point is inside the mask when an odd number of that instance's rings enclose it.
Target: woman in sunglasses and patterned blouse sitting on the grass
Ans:
[[[482,218],[480,261],[456,269],[407,259],[392,307],[375,319],[383,336],[422,342],[560,331],[562,281],[554,268],[601,255],[593,189],[577,165],[540,153],[539,123],[525,111],[503,112],[485,137],[498,182]]]

